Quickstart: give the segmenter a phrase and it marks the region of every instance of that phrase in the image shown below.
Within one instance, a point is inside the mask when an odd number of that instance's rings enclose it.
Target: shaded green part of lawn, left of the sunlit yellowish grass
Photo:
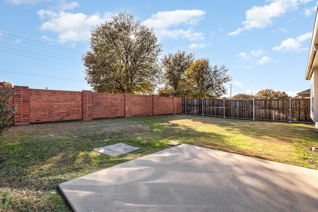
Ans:
[[[182,119],[182,116],[174,118]],[[24,201],[25,206],[18,200],[3,207],[12,211],[22,208],[57,211],[52,193],[62,182],[169,148],[166,143],[170,141],[195,143],[198,137],[220,137],[171,124],[169,116],[122,121],[123,124],[118,120],[98,120],[21,126],[17,129],[19,134],[14,134],[15,127],[10,129],[0,137],[0,187],[5,189],[0,193],[10,191],[11,196],[19,193],[20,200],[29,201]],[[92,150],[118,142],[141,149],[115,157]],[[44,200],[46,198],[51,200]],[[36,204],[43,201],[45,204]]]

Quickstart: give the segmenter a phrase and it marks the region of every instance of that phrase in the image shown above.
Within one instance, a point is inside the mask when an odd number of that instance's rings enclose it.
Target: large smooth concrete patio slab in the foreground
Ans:
[[[75,212],[318,210],[318,170],[188,144],[58,188]]]

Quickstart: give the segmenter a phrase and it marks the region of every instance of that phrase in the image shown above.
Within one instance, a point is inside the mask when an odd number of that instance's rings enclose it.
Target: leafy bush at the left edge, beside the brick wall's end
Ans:
[[[9,100],[14,92],[10,87],[6,87],[3,82],[0,82],[0,135],[4,133],[10,126],[10,121],[13,120],[16,104],[9,107]]]

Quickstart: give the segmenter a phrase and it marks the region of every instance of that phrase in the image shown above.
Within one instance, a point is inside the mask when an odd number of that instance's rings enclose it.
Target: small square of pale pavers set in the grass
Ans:
[[[117,156],[121,154],[126,154],[128,152],[140,149],[139,147],[131,146],[125,143],[116,143],[113,145],[103,146],[99,148],[93,148],[93,150],[98,151],[102,154],[107,154],[109,156]]]

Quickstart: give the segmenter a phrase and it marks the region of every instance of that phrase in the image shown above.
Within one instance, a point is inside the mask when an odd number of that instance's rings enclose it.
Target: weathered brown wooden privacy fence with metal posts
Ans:
[[[313,123],[310,99],[183,99],[183,113],[233,119]]]

